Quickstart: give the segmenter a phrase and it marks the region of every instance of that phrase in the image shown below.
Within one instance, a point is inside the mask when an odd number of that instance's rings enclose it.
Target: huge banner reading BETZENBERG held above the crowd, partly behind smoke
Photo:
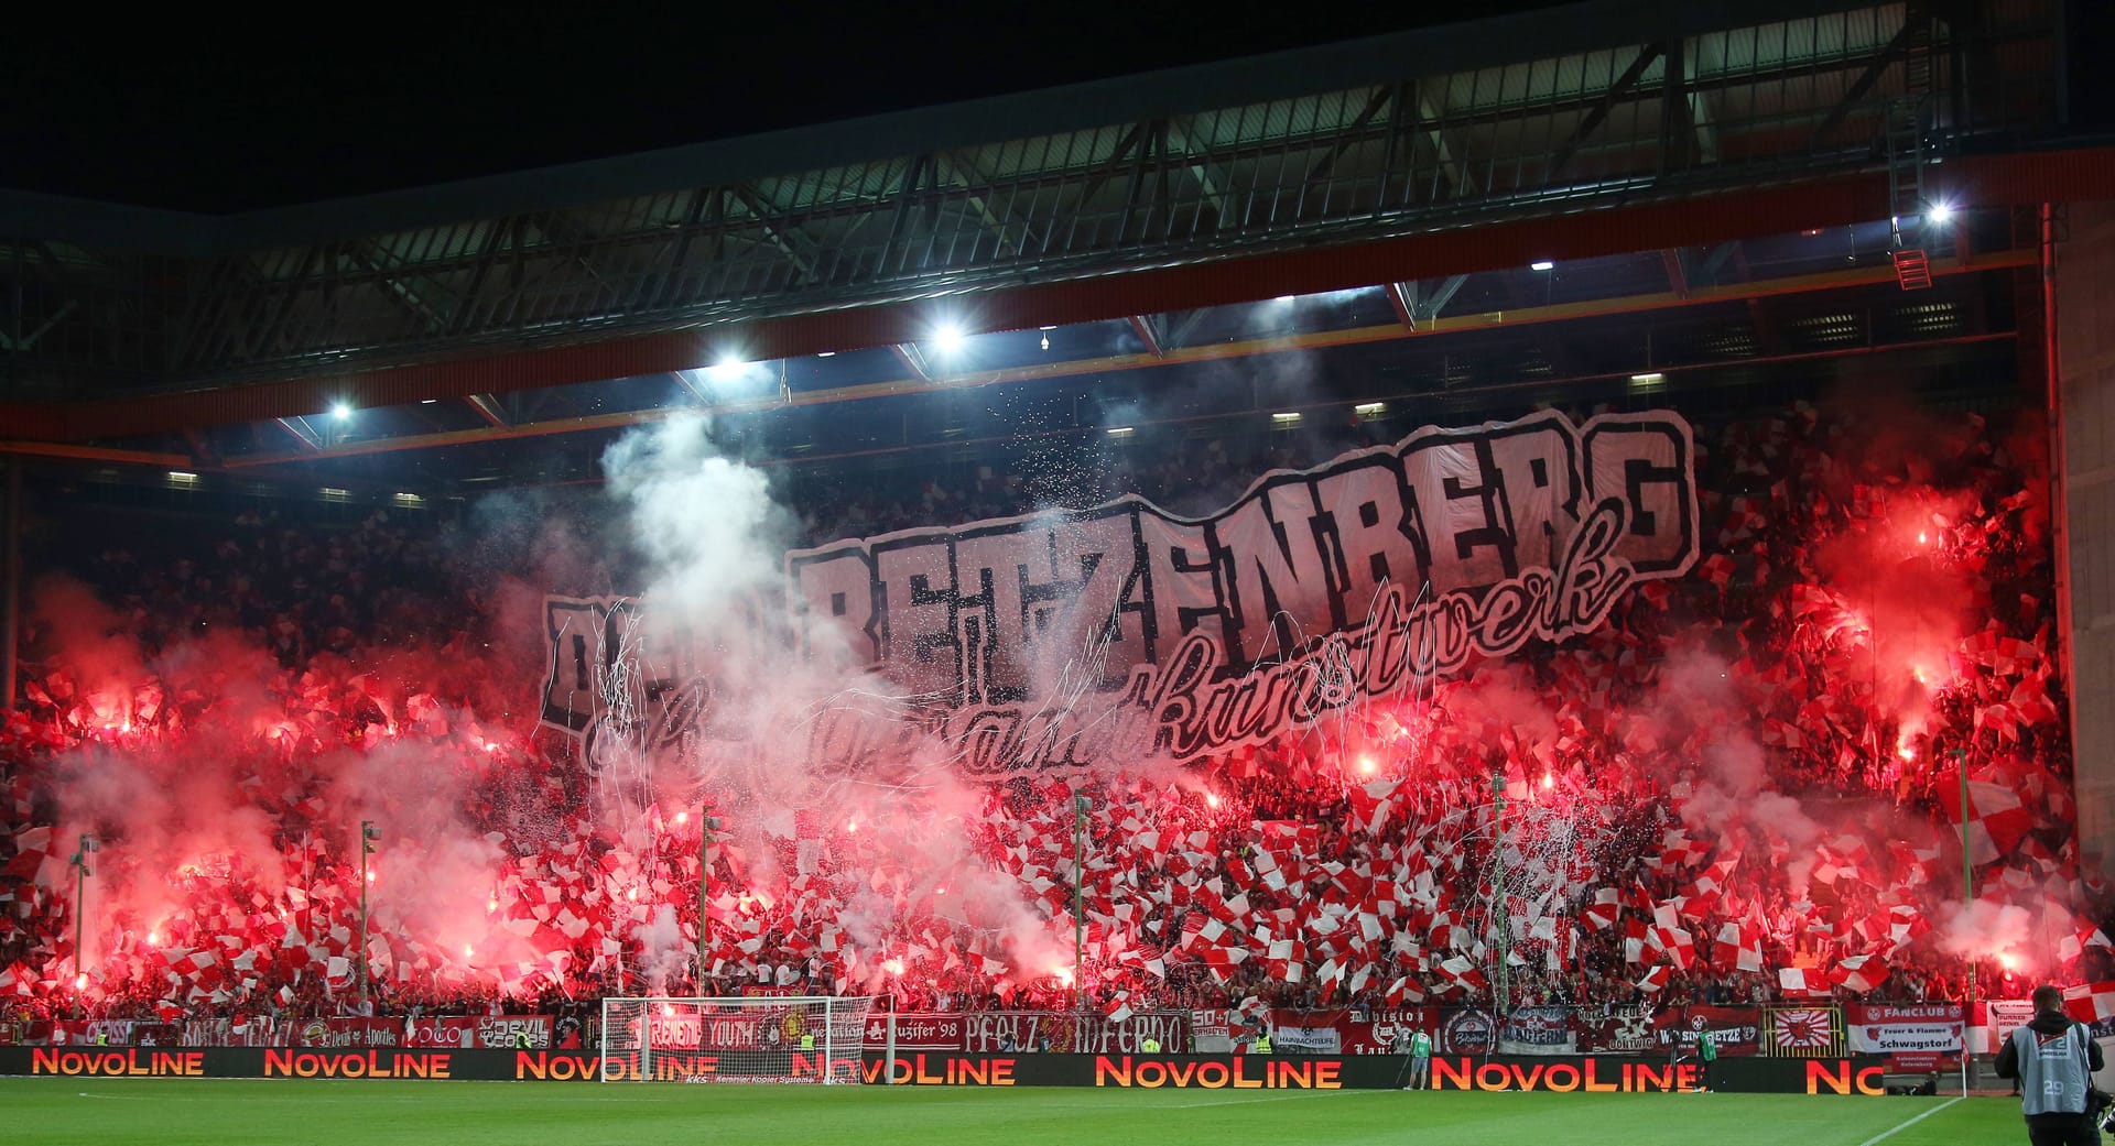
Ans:
[[[1273,472],[1199,520],[1123,497],[795,550],[713,632],[550,596],[541,715],[590,759],[599,732],[753,753],[713,713],[812,664],[848,687],[812,706],[810,761],[1189,761],[1588,632],[1696,556],[1679,414],[1546,410]]]

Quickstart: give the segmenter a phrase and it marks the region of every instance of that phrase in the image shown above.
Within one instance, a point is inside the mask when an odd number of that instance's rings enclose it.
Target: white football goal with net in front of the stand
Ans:
[[[605,1083],[859,1083],[871,996],[605,998]]]

